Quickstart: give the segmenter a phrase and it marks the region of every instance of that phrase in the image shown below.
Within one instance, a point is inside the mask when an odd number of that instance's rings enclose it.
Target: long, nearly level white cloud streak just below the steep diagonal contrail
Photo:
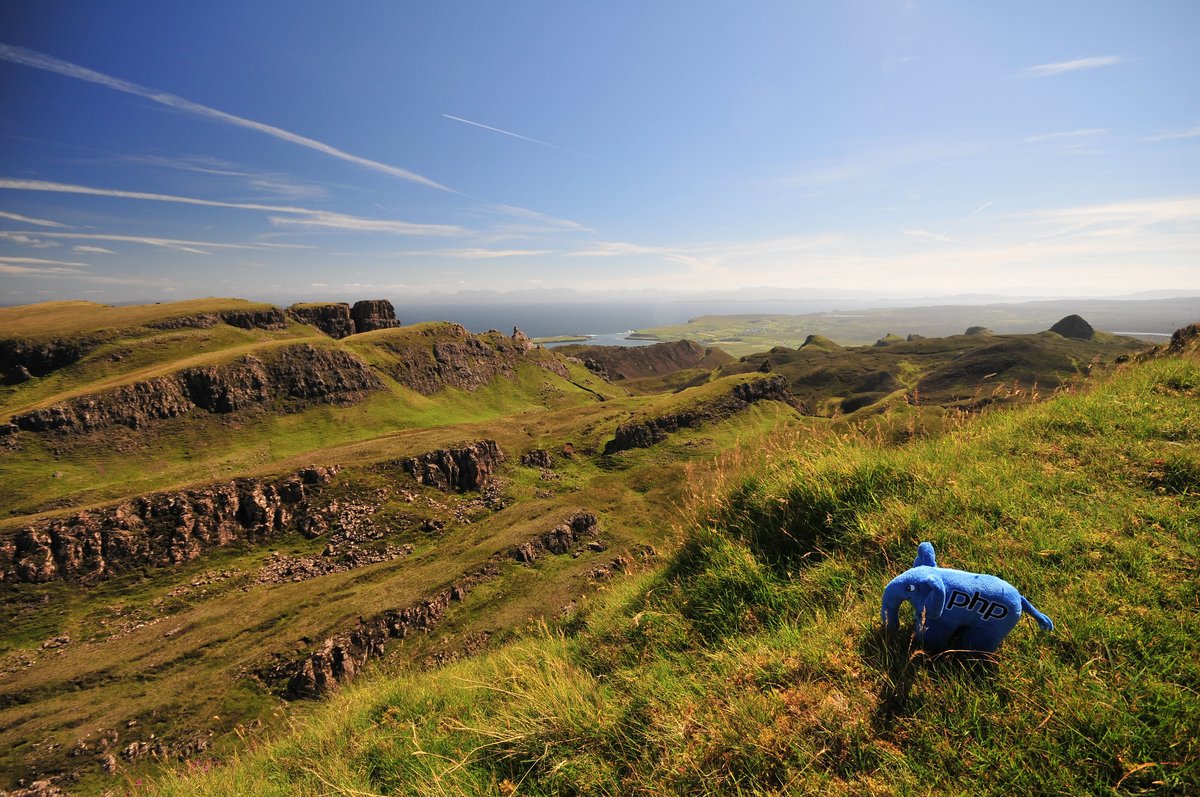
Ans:
[[[12,191],[48,191],[54,193],[74,193],[92,197],[113,197],[116,199],[139,199],[146,202],[168,202],[186,205],[200,205],[205,208],[230,208],[234,210],[257,210],[263,212],[299,216],[299,218],[271,216],[271,223],[278,227],[395,233],[401,235],[457,235],[467,232],[464,228],[454,224],[420,224],[388,218],[364,218],[360,216],[349,216],[325,210],[314,210],[312,208],[264,205],[256,202],[221,202],[217,199],[180,197],[169,193],[122,191],[119,188],[95,188],[91,186],[72,185],[67,182],[50,182],[47,180],[0,178],[0,188]]]

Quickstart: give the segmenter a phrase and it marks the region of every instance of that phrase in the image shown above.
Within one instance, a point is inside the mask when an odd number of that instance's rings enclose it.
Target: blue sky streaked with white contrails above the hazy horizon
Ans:
[[[1190,0],[7,0],[0,301],[1200,289],[1198,31]]]

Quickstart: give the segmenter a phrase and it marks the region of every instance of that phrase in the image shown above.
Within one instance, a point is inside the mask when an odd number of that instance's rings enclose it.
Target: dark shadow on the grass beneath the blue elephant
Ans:
[[[913,685],[922,676],[932,681],[955,678],[992,684],[1000,672],[990,653],[958,649],[929,653],[917,645],[911,630],[888,631],[882,625],[863,637],[859,654],[883,675],[878,707],[871,718],[880,731],[893,727],[896,719],[920,708]]]

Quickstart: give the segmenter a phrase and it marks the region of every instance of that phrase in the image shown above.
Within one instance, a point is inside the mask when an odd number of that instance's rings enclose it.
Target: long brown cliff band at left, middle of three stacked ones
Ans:
[[[143,429],[193,409],[232,413],[268,401],[349,405],[379,378],[358,358],[336,349],[289,346],[259,359],[187,368],[16,415],[8,432],[82,432],[109,426]]]

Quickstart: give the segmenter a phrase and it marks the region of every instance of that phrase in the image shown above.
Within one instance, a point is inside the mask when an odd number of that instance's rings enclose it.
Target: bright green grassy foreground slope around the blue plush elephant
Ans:
[[[1194,793],[1198,397],[1181,356],[901,449],[728,455],[666,570],[151,791]],[[880,592],[922,539],[1056,631],[1022,622],[984,661],[884,636]]]

